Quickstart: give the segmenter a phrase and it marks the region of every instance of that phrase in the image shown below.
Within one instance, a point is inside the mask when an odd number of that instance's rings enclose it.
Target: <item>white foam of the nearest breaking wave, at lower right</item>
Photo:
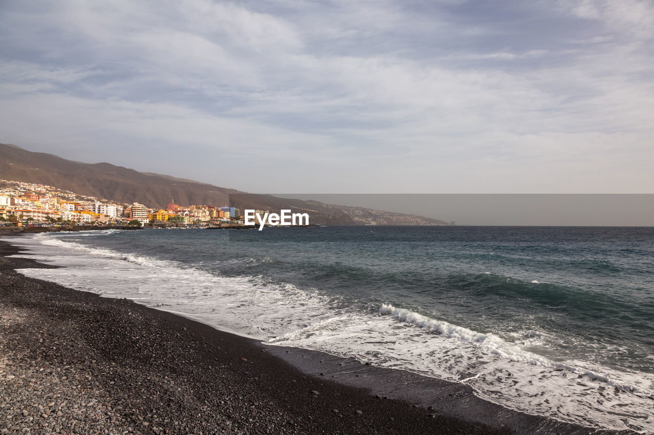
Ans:
[[[309,325],[271,344],[318,349],[470,385],[490,402],[589,427],[654,430],[652,377],[553,362],[494,336],[384,304]],[[393,323],[388,319],[401,323]]]

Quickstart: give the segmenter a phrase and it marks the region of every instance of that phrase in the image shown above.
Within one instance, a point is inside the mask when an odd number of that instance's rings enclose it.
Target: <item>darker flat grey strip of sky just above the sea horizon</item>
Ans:
[[[428,216],[456,225],[654,227],[652,193],[311,193],[283,197]]]

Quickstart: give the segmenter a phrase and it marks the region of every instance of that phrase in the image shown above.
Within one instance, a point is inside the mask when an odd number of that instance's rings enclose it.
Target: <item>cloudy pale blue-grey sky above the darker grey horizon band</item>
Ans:
[[[0,1],[0,142],[264,192],[652,193],[651,0]]]

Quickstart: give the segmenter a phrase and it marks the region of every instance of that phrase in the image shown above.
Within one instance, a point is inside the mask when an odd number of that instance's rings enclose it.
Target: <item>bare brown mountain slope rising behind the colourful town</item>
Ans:
[[[80,195],[120,203],[140,202],[150,208],[166,208],[167,204],[174,200],[182,206],[229,204],[241,210],[290,209],[292,212],[309,213],[309,221],[320,225],[362,225],[370,221],[392,225],[402,221],[402,217],[417,217],[245,193],[186,178],[138,172],[111,163],[67,160],[53,154],[29,152],[12,144],[0,144],[0,179],[46,184]],[[421,219],[417,221],[419,225],[445,225],[445,222],[436,219]]]

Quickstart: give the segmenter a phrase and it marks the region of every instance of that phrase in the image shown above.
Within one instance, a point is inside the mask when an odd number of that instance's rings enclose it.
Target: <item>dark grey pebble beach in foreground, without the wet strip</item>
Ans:
[[[309,376],[184,317],[27,278],[14,269],[51,266],[15,253],[0,242],[0,435],[515,433]]]

